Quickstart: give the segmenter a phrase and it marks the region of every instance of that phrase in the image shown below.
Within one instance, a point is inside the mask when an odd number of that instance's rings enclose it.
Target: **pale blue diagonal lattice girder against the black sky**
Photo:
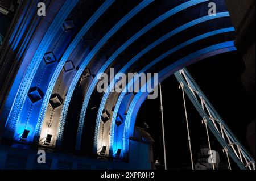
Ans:
[[[180,85],[185,90],[188,98],[203,118],[204,122],[209,127],[224,151],[229,154],[240,169],[255,170],[255,161],[253,157],[243,148],[234,134],[230,131],[225,122],[218,115],[217,111],[210,104],[209,100],[197,86],[187,69],[181,69],[175,73],[175,77],[180,82]]]

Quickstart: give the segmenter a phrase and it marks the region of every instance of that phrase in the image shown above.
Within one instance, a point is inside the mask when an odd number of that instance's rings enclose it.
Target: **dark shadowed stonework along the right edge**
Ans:
[[[241,79],[248,95],[253,120],[247,126],[246,138],[255,158],[255,0],[225,2],[236,29],[235,44],[245,64]]]

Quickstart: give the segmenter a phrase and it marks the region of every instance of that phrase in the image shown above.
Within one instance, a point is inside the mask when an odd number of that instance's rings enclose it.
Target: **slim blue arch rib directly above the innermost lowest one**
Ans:
[[[214,36],[214,35],[218,35],[220,33],[225,33],[225,32],[232,32],[234,31],[233,27],[230,28],[223,28],[220,30],[215,30],[215,31],[211,31],[208,33],[205,33],[203,35],[197,36],[191,40],[185,41],[184,43],[178,45],[177,47],[169,50],[168,52],[162,54],[162,56],[156,58],[154,61],[152,61],[150,64],[148,64],[147,66],[145,66],[139,73],[143,73],[146,72],[148,69],[152,68],[152,66],[154,66],[155,64],[157,64],[159,61],[163,60],[164,58],[166,58],[167,56],[170,56],[170,54],[176,52],[177,50],[186,47],[189,44],[195,43],[196,41],[199,41],[201,39],[205,39],[207,37],[210,36]],[[136,81],[138,77],[135,77],[133,80],[131,80],[128,85],[125,87],[125,89],[122,91],[121,95],[119,96],[117,103],[115,104],[115,108],[114,108],[114,112],[113,112],[113,116],[112,116],[112,122],[111,122],[111,127],[110,127],[110,144],[109,144],[109,149],[110,152],[111,150],[113,150],[113,142],[114,142],[114,127],[115,127],[115,119],[117,118],[117,113],[119,110],[119,107],[121,105],[122,99],[125,96],[126,92],[130,89],[130,87],[133,85],[133,82]],[[121,149],[121,148],[119,148]],[[113,153],[115,152],[115,149],[113,150]]]

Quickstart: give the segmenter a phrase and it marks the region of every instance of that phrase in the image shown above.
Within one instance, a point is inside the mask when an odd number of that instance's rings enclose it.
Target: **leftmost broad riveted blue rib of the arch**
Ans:
[[[15,102],[13,104],[13,108],[9,114],[7,128],[6,129],[6,136],[10,137],[15,131],[16,123],[20,118],[20,112],[24,106],[24,102],[26,100],[26,96],[28,93],[28,89],[30,89],[31,82],[35,76],[35,73],[38,69],[38,66],[46,53],[53,37],[55,37],[57,31],[61,27],[61,24],[67,18],[73,7],[76,5],[78,0],[67,0],[65,1],[64,5],[61,7],[55,19],[53,19],[51,25],[49,26],[46,34],[44,35],[42,41],[39,44],[38,49],[36,50],[30,65],[24,75],[23,81],[19,87],[18,94],[16,95]]]

